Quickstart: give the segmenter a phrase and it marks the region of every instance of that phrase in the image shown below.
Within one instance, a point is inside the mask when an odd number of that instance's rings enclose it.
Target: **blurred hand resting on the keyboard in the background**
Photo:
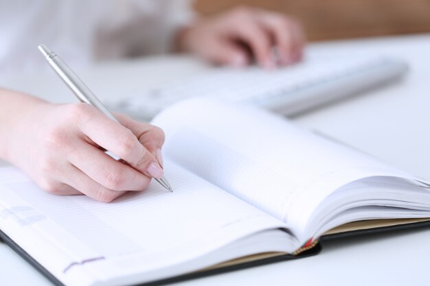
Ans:
[[[185,27],[177,36],[177,47],[216,64],[242,67],[253,57],[262,67],[272,69],[302,59],[304,32],[284,14],[236,8]],[[277,55],[273,55],[273,47]]]

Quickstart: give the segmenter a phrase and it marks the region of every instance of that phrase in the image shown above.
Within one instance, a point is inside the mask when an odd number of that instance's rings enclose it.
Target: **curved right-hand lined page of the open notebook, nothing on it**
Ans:
[[[152,123],[166,132],[168,158],[297,231],[344,184],[405,175],[257,108],[190,99]]]

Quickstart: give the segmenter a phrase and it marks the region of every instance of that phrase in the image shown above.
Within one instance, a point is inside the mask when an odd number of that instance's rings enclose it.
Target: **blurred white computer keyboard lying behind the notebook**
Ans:
[[[315,58],[271,71],[220,67],[106,105],[148,120],[175,102],[205,96],[292,116],[391,82],[407,69],[406,62],[383,56]]]

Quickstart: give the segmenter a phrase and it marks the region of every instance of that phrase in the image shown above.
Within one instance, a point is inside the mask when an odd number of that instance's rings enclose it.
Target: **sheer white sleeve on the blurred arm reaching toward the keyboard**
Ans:
[[[172,51],[174,34],[190,22],[192,0],[126,0],[105,11],[95,35],[99,59]]]

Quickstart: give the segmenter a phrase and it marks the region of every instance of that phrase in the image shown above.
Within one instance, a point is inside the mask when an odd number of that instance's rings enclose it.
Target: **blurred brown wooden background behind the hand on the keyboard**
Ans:
[[[430,0],[196,0],[202,14],[251,5],[296,16],[308,40],[430,32]]]

